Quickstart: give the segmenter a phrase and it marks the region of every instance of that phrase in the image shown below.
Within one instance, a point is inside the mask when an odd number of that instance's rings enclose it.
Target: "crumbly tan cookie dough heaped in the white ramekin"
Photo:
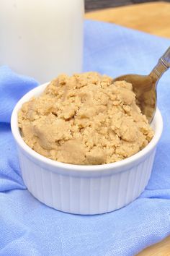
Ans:
[[[23,104],[18,123],[24,142],[63,163],[113,163],[142,150],[153,137],[135,103],[132,85],[97,72],[61,74]]]

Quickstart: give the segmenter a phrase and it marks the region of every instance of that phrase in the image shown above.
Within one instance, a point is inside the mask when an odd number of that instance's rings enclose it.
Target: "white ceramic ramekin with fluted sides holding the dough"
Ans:
[[[36,153],[19,133],[17,113],[25,101],[42,93],[48,84],[24,95],[12,113],[12,134],[27,189],[38,200],[67,213],[98,214],[122,208],[137,198],[148,184],[161,137],[163,121],[158,111],[152,121],[155,135],[139,153],[117,163],[79,166],[59,163]]]

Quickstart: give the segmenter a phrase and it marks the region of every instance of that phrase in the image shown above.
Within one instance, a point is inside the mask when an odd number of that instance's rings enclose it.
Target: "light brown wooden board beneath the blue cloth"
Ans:
[[[164,1],[102,9],[88,12],[85,17],[170,38],[170,3]],[[170,236],[144,249],[138,256],[170,256]]]

